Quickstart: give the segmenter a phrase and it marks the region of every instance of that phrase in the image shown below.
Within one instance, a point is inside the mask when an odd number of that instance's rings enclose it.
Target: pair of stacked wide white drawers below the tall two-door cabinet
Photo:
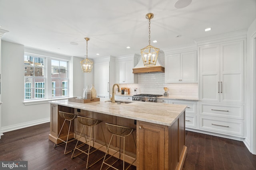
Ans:
[[[244,105],[200,103],[200,130],[244,137]]]

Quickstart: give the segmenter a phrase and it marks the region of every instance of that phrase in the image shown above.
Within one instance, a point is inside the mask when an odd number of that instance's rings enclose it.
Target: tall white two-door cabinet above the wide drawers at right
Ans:
[[[244,41],[200,47],[200,100],[244,102]]]

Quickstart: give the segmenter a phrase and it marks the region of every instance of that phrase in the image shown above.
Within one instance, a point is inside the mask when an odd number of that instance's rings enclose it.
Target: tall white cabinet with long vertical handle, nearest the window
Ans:
[[[112,56],[94,59],[94,87],[98,98],[110,98],[115,81],[115,59]]]

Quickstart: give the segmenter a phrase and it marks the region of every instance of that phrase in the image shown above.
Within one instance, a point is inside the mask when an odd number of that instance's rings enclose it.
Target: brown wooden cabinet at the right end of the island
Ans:
[[[184,113],[171,126],[137,121],[137,170],[182,169],[185,156]]]

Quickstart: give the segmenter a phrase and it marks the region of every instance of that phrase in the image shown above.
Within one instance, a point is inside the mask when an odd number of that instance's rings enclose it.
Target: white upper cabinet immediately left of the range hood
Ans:
[[[139,55],[126,55],[116,58],[116,83],[137,83],[137,74],[132,73],[132,68],[138,63]]]

